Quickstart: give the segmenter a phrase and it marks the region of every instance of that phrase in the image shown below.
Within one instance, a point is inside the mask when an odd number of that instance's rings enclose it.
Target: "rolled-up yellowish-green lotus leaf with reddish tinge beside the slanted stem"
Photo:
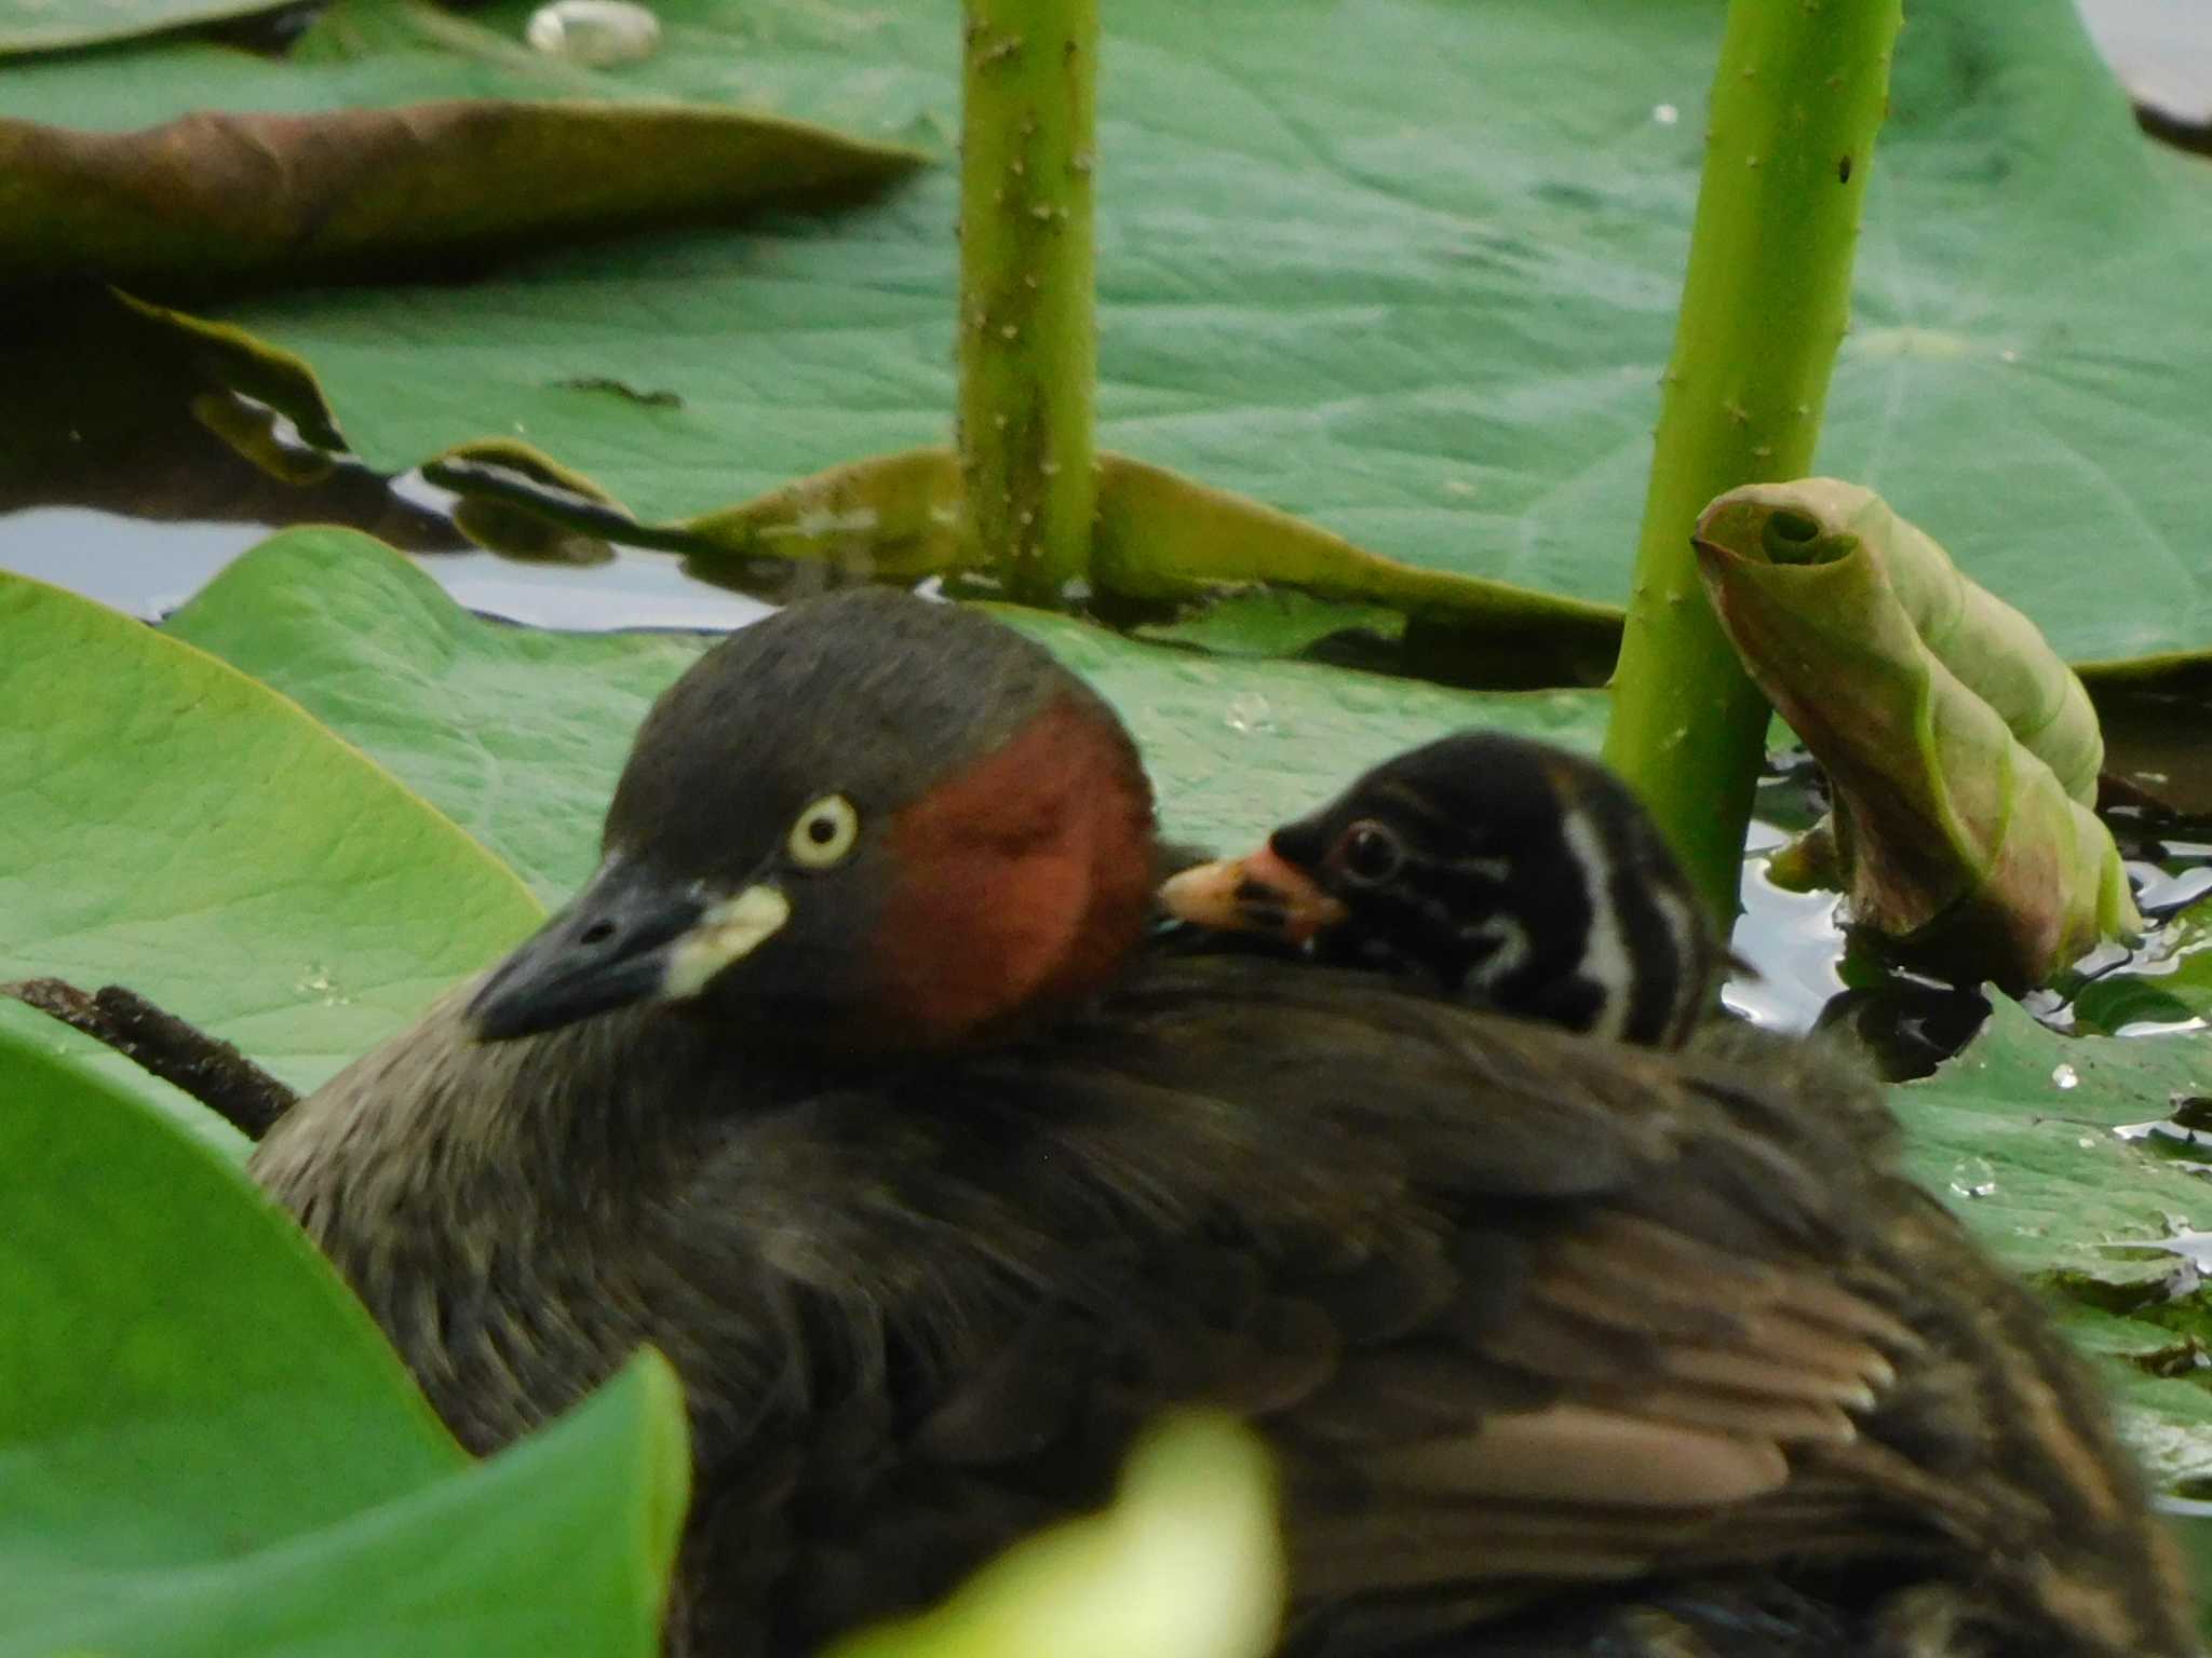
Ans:
[[[1832,478],[1734,489],[1694,544],[1745,670],[1836,785],[1858,926],[2013,990],[2141,926],[2090,811],[2097,714],[2033,621]]]

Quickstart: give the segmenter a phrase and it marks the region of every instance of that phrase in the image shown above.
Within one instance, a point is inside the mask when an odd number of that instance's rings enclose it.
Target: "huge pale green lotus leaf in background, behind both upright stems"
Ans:
[[[356,0],[281,73],[312,49],[334,97],[465,95],[533,9],[436,46]],[[655,11],[664,51],[580,84],[951,150],[951,0]],[[1124,0],[1104,27],[1099,442],[1389,559],[1621,604],[1719,11]],[[170,51],[24,64],[0,108],[276,108],[263,69]],[[956,208],[929,168],[858,212],[212,314],[378,471],[520,436],[668,526],[947,440]],[[1940,524],[2068,661],[2201,657],[2208,250],[2212,170],[2135,128],[2070,0],[1916,7],[1816,464]]]

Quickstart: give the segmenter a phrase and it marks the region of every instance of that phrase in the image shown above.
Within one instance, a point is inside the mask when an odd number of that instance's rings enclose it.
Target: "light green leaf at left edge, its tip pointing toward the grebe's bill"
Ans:
[[[0,979],[128,984],[301,1088],[542,913],[294,703],[11,575],[0,778]]]

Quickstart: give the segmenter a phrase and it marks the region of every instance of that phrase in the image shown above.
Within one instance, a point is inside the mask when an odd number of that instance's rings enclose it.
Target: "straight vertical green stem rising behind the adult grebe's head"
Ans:
[[[1055,604],[1097,504],[1097,0],[967,0],[964,22],[960,484],[978,564]]]

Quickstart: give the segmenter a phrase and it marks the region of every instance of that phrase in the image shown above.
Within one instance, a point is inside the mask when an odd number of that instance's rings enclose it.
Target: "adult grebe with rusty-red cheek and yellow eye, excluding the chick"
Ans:
[[[993,769],[1040,718],[1073,758]],[[1851,1072],[1148,955],[1152,860],[1042,652],[787,610],[657,707],[584,900],[254,1172],[471,1446],[675,1360],[679,1651],[942,1594],[1197,1399],[1281,1459],[1296,1651],[2194,1651],[2101,1404]]]

